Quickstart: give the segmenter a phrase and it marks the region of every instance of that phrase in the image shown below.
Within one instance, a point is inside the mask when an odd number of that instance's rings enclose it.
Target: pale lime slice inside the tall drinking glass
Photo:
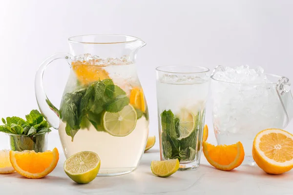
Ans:
[[[180,119],[178,125],[180,137],[178,139],[181,140],[188,137],[195,129],[198,115],[194,116],[188,109],[183,108],[177,117]]]

